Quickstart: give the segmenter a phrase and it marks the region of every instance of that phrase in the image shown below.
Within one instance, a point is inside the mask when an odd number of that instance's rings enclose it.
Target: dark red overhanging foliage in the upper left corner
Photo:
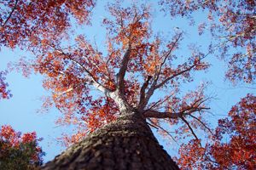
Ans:
[[[93,0],[10,0],[0,4],[0,44],[15,48],[27,41],[32,46],[57,41],[71,25],[72,17],[79,24],[89,24],[90,10],[95,3]]]

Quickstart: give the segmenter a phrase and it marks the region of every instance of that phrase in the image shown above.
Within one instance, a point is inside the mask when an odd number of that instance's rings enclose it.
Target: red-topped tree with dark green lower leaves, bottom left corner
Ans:
[[[0,168],[38,169],[43,163],[44,152],[38,146],[37,134],[15,132],[8,126],[0,130]]]

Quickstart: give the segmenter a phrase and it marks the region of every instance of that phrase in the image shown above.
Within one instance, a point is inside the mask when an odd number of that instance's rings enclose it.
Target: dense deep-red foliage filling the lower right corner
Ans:
[[[190,140],[179,149],[177,163],[182,169],[254,169],[256,97],[247,96],[234,105],[229,116],[218,120],[212,143],[204,147],[199,140]]]

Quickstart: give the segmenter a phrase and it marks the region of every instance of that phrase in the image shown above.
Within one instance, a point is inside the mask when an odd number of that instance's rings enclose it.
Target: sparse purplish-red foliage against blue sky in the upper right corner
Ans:
[[[218,42],[213,51],[228,60],[226,77],[232,82],[254,82],[256,75],[256,9],[254,0],[160,0],[166,13],[183,16],[194,24],[193,14],[207,13],[207,21],[198,26],[199,34],[210,30]],[[217,54],[217,53],[216,53]],[[229,57],[230,56],[230,57]]]

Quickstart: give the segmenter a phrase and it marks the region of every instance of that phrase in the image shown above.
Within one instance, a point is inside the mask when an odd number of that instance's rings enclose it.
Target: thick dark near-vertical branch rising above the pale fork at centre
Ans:
[[[121,62],[121,67],[119,69],[119,73],[117,74],[117,84],[119,91],[124,94],[125,91],[125,72],[127,70],[128,62],[130,60],[130,54],[131,54],[131,44],[129,44],[128,49],[125,52],[125,55]]]

